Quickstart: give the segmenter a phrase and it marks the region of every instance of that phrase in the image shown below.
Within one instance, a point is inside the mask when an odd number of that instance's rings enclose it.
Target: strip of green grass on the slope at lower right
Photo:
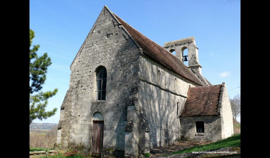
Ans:
[[[181,151],[176,151],[176,152],[170,153],[168,155],[183,154],[183,153],[189,153],[192,151],[214,150],[214,149],[220,149],[220,148],[224,148],[224,147],[241,146],[240,136],[241,136],[241,134],[235,134],[229,138],[216,141],[215,143],[187,148],[187,149],[184,149]]]

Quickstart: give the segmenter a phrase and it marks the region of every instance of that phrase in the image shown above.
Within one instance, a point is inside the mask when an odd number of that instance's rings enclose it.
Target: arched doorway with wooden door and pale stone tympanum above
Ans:
[[[101,112],[93,115],[92,157],[99,157],[103,148],[104,117]]]

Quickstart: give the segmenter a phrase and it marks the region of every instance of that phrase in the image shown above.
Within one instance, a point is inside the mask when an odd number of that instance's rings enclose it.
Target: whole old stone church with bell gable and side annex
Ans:
[[[180,140],[231,136],[225,83],[212,85],[201,68],[194,37],[162,47],[104,6],[70,66],[57,144],[85,155],[141,157]]]

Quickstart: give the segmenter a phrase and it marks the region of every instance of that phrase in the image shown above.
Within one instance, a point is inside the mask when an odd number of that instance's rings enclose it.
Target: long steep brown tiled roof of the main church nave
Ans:
[[[108,11],[111,12],[109,9]],[[126,29],[131,35],[131,37],[137,42],[139,47],[142,48],[143,54],[150,57],[151,59],[154,59],[156,62],[160,63],[165,68],[168,68],[169,70],[179,74],[180,76],[191,80],[200,86],[204,85],[178,57],[174,56],[162,46],[145,37],[142,33],[137,31],[129,24],[127,24],[124,20],[115,15],[115,13],[111,12],[111,14],[115,16],[115,18],[121,23],[124,29]]]

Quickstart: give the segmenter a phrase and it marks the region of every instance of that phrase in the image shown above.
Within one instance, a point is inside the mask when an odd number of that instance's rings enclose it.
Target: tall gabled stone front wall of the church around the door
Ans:
[[[124,150],[127,102],[138,82],[141,50],[104,7],[70,66],[70,87],[61,108],[57,143],[91,153],[92,116],[104,115],[103,148]],[[107,69],[106,101],[95,100],[96,68]]]

